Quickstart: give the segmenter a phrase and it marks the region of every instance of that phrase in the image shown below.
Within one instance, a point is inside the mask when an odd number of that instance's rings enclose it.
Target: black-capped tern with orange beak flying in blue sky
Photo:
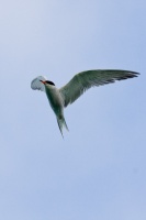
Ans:
[[[63,134],[63,129],[68,130],[64,109],[76,101],[85,91],[91,87],[103,86],[106,84],[115,82],[137,77],[139,73],[121,69],[91,69],[76,74],[68,84],[61,88],[57,88],[55,84],[47,80],[44,76],[34,78],[31,82],[33,90],[44,91],[47,96],[49,105],[56,116],[57,123]],[[68,130],[69,131],[69,130]]]

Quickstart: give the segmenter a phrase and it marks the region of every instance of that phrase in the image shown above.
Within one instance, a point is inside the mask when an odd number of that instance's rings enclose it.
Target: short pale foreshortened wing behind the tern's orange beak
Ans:
[[[41,91],[45,91],[44,84],[42,84],[41,80],[45,81],[46,78],[44,76],[36,77],[35,79],[32,80],[31,88],[34,89],[34,90],[37,89],[37,90],[41,90]]]

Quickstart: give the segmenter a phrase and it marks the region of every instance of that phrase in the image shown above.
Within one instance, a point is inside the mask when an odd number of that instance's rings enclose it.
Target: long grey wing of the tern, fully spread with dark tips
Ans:
[[[138,73],[128,70],[115,69],[94,69],[81,72],[74,76],[74,78],[64,87],[59,89],[64,106],[67,107],[78,99],[87,89],[93,86],[102,86],[114,82],[115,80],[123,80],[137,77]]]

